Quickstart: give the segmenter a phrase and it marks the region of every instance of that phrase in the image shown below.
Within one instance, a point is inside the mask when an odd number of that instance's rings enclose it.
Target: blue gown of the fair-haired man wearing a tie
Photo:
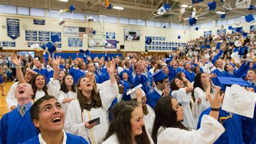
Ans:
[[[31,107],[30,107],[31,108]],[[36,127],[30,120],[30,108],[22,115],[15,108],[4,114],[1,119],[1,139],[3,143],[24,142],[38,135]]]

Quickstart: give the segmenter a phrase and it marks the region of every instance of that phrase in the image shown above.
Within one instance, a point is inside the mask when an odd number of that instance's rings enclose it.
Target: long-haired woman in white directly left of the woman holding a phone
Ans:
[[[64,113],[66,113],[69,102],[76,98],[77,93],[73,77],[70,74],[67,74],[63,77],[63,82],[60,84],[60,90],[58,92],[58,101],[62,104]]]

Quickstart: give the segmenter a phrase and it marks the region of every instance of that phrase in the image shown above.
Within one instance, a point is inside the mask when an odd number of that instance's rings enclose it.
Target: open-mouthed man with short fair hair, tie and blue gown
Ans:
[[[33,95],[30,84],[19,84],[15,89],[18,100],[17,108],[4,114],[0,126],[0,142],[20,143],[33,138],[38,132],[30,121],[29,110],[32,106]]]

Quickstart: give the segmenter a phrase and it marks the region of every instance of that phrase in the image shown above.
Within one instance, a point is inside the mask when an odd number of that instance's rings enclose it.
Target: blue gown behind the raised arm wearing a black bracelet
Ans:
[[[211,111],[211,107],[205,109],[199,116],[199,121],[197,125],[197,129],[200,128],[201,119],[203,118],[204,114],[209,114]],[[220,117],[227,117],[228,113],[223,111],[220,108],[219,118],[218,121],[220,122]],[[223,143],[223,144],[242,144],[244,141],[242,140],[242,129],[241,129],[241,116],[237,114],[233,114],[232,118],[222,120],[223,127],[225,128],[225,132],[220,135],[220,137],[214,142]]]

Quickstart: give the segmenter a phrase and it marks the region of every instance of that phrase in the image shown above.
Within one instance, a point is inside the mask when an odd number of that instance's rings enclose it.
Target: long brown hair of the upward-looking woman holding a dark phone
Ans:
[[[102,100],[100,100],[99,92],[96,90],[96,88],[92,88],[91,91],[91,104],[89,103],[89,99],[87,99],[83,93],[82,90],[79,90],[78,87],[80,87],[80,82],[83,78],[80,78],[77,83],[77,99],[79,101],[80,108],[87,109],[87,111],[90,111],[91,108],[99,108],[102,107]]]

